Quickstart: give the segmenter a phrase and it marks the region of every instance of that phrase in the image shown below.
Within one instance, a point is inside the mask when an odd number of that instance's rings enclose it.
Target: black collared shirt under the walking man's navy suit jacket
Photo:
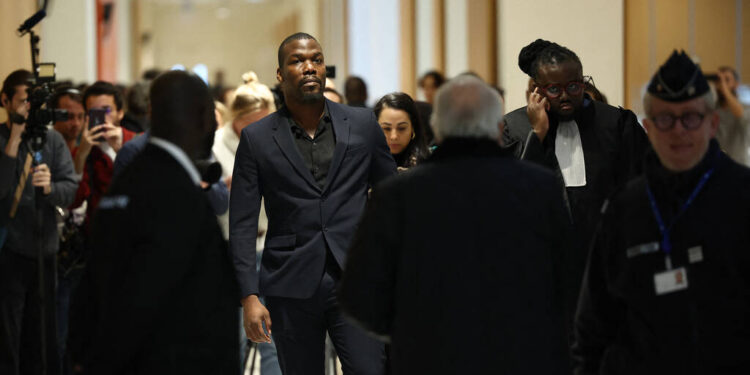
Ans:
[[[312,173],[315,182],[322,189],[328,177],[328,168],[333,159],[333,150],[336,148],[336,135],[333,131],[333,122],[328,114],[328,106],[325,106],[323,117],[318,121],[315,136],[310,138],[305,129],[299,126],[292,115],[287,111],[289,126],[292,129],[294,143],[305,161],[305,166]]]

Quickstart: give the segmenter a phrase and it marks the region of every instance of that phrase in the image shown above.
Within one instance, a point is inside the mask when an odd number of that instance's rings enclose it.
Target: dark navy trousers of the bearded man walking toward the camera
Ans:
[[[345,375],[384,373],[383,344],[354,327],[339,309],[337,276],[326,271],[318,290],[308,299],[266,297],[284,375],[324,373],[326,332]]]

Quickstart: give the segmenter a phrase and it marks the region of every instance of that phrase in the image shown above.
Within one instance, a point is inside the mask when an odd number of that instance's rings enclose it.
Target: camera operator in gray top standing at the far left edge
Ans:
[[[78,186],[70,152],[59,133],[49,131],[38,152],[31,150],[23,137],[27,127],[44,126],[19,123],[29,117],[31,78],[33,75],[26,70],[11,73],[0,94],[9,119],[0,125],[0,226],[7,230],[0,250],[0,374],[11,375],[41,371],[42,326],[46,330],[47,373],[58,373],[55,206],[68,206]],[[32,163],[34,159],[36,162]],[[40,245],[43,267],[38,260]],[[44,269],[42,275],[40,268]],[[40,288],[40,278],[44,288]],[[39,298],[40,289],[44,300]],[[40,324],[42,311],[44,325]]]

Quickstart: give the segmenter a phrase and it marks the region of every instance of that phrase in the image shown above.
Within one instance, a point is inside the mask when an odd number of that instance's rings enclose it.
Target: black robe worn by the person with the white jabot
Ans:
[[[505,115],[503,143],[519,158],[557,174],[564,185],[555,156],[557,119],[550,116],[550,128],[544,142],[532,132],[526,107]],[[568,258],[568,306],[573,316],[578,291],[588,256],[591,238],[601,216],[602,203],[618,186],[642,172],[643,156],[650,148],[646,133],[633,112],[584,99],[575,121],[581,135],[586,166],[586,186],[565,188],[566,202],[573,218],[575,246]]]

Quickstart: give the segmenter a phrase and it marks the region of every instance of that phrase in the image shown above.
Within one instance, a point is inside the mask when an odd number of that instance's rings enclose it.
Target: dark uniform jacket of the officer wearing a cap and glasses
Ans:
[[[669,223],[712,166],[671,231],[672,264],[685,267],[688,287],[657,295],[665,253],[641,247],[662,238],[646,183]],[[612,198],[592,248],[576,320],[578,374],[750,374],[748,186],[750,169],[715,141],[685,173],[648,158],[646,176]]]

